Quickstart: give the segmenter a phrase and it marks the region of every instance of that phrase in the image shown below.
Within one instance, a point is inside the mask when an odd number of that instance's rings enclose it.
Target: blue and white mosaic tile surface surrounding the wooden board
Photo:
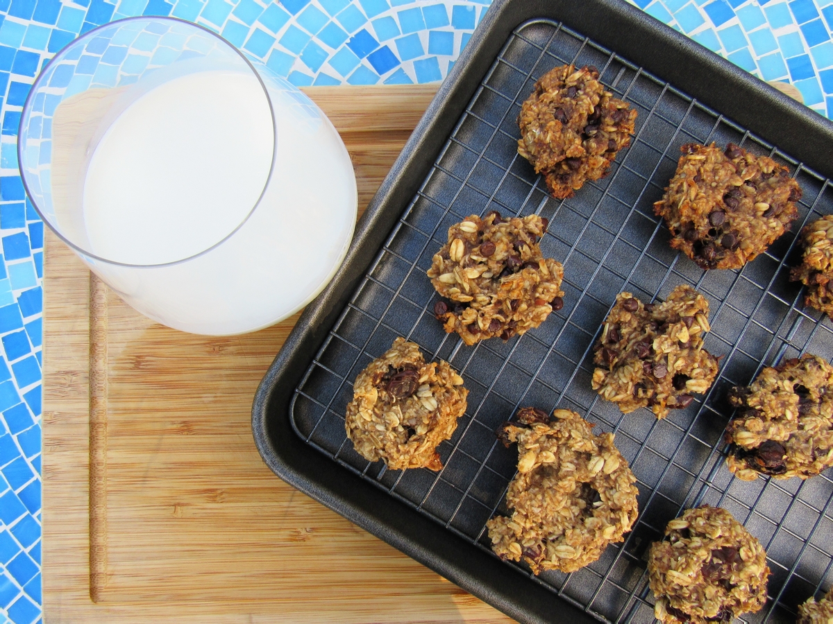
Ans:
[[[0,0],[0,624],[41,622],[43,224],[17,173],[37,72],[79,33],[170,15],[299,86],[441,81],[491,0]],[[833,0],[631,0],[833,114]]]

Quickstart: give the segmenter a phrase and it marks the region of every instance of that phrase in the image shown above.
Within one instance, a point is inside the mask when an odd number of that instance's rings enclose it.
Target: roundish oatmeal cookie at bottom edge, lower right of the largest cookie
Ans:
[[[663,624],[731,622],[766,602],[770,568],[761,542],[726,509],[687,509],[651,544],[648,582]]]

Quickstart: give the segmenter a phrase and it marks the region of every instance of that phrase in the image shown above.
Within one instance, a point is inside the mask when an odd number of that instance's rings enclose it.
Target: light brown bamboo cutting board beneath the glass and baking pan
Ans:
[[[363,208],[436,87],[306,91],[342,133]],[[262,463],[252,397],[297,316],[183,334],[46,245],[47,624],[509,621]]]

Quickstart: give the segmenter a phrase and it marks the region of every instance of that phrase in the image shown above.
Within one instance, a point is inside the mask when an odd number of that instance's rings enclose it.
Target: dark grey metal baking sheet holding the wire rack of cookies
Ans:
[[[797,231],[833,206],[823,174],[808,165],[826,165],[818,151],[831,145],[831,124],[624,3],[581,3],[578,15],[575,4],[491,7],[367,210],[342,271],[263,380],[252,417],[258,448],[289,483],[528,622],[650,622],[646,547],[681,509],[720,504],[761,539],[773,569],[771,600],[748,621],[793,621],[796,604],[831,581],[833,482],[733,479],[721,433],[731,415],[726,387],[782,357],[808,350],[833,357],[833,325],[804,310],[800,289],[787,281]],[[611,176],[555,201],[516,154],[515,119],[536,78],[565,62],[599,67],[602,82],[639,117]],[[726,93],[734,99],[726,102]],[[818,145],[785,128],[814,133]],[[691,141],[771,154],[804,190],[791,233],[743,270],[699,270],[671,250],[653,215],[679,147]],[[433,319],[436,293],[425,270],[449,225],[487,210],[550,219],[541,247],[565,265],[565,306],[520,338],[466,347]],[[590,389],[596,333],[621,290],[652,300],[681,283],[710,300],[706,348],[726,356],[721,377],[666,420],[645,409],[623,416]],[[441,473],[385,471],[345,438],[352,381],[397,335],[450,361],[471,391],[454,437],[441,445]],[[639,479],[640,519],[626,542],[571,575],[533,577],[488,549],[485,522],[501,509],[516,461],[493,432],[524,405],[575,409],[598,430],[615,431]]]

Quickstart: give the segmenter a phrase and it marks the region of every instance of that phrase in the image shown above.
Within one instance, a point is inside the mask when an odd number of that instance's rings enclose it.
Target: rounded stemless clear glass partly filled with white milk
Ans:
[[[58,52],[17,150],[52,230],[136,310],[194,334],[285,319],[352,238],[356,179],[327,117],[189,22],[124,19]]]

